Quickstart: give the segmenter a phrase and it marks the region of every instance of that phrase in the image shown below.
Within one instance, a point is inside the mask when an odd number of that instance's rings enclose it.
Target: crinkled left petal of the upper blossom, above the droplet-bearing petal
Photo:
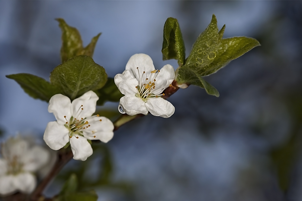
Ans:
[[[116,84],[120,93],[125,96],[135,96],[137,89],[135,86],[138,86],[138,81],[134,78],[130,71],[125,70],[122,74],[117,74],[114,76],[114,83]]]

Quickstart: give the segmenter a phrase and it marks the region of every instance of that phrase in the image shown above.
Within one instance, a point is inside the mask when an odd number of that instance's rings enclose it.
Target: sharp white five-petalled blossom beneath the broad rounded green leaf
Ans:
[[[88,91],[70,102],[67,96],[56,94],[49,101],[48,111],[57,121],[47,124],[44,141],[54,150],[61,149],[70,142],[73,159],[85,161],[92,155],[92,147],[87,140],[101,140],[107,143],[113,137],[113,123],[95,113],[98,96]]]

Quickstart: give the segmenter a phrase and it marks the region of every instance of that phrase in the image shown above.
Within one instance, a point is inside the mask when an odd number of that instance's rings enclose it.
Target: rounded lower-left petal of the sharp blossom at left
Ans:
[[[69,142],[68,133],[64,125],[51,121],[46,126],[43,139],[51,149],[58,150]]]

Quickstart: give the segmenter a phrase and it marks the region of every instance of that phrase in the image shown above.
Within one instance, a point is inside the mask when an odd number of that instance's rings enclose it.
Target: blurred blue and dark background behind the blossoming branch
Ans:
[[[21,134],[43,143],[47,102],[29,97],[8,74],[49,80],[60,64],[61,31],[55,18],[78,28],[84,45],[102,32],[94,60],[109,77],[124,71],[131,55],[162,61],[162,30],[177,18],[188,56],[210,23],[226,24],[224,37],[248,36],[262,46],[197,86],[169,98],[175,114],[147,115],[95,145],[86,162],[72,160],[46,190],[59,192],[76,173],[81,189],[100,201],[302,200],[302,3],[301,1],[1,1],[0,127],[2,140]],[[118,103],[101,110],[117,111]]]

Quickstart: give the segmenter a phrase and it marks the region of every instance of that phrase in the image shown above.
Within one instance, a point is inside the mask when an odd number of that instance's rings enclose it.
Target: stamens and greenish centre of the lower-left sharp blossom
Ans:
[[[80,106],[80,108],[78,109],[78,111],[76,112],[76,116],[81,116],[81,112],[83,110],[83,105]],[[94,117],[99,117],[100,115],[93,115],[91,117],[84,117],[84,118],[80,118],[80,119],[76,119],[73,116],[69,119],[69,121],[67,120],[66,116],[64,116],[64,118],[66,119],[66,124],[65,127],[69,129],[69,137],[72,138],[72,136],[74,135],[79,135],[79,136],[83,136],[83,131],[85,129],[87,129],[88,127],[90,127],[90,124],[88,121],[90,121],[90,123],[95,123],[95,121],[102,121],[101,119],[99,120],[92,120],[92,118]],[[90,132],[95,133],[96,131],[94,130],[90,130]],[[93,136],[95,137],[95,136]],[[79,138],[76,136],[76,138]]]

